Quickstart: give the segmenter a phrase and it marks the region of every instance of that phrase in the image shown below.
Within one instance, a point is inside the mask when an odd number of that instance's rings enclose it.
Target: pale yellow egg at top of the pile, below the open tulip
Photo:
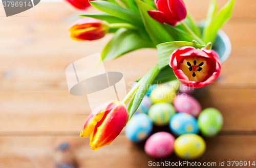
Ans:
[[[172,103],[176,97],[176,90],[168,85],[159,85],[150,94],[153,103]]]

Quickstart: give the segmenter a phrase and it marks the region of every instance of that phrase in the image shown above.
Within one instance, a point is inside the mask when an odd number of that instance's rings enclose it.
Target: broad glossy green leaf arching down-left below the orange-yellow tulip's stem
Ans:
[[[102,61],[116,59],[121,55],[139,48],[155,47],[143,32],[121,28],[101,53]]]

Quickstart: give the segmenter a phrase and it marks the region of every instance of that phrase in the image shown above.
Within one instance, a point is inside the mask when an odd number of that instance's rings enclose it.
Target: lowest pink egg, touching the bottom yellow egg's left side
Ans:
[[[146,154],[154,158],[166,158],[174,151],[175,138],[168,132],[157,132],[151,135],[144,146]]]

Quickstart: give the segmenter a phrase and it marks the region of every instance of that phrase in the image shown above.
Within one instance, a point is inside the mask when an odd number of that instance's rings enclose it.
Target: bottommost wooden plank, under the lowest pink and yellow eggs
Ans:
[[[256,136],[219,135],[206,139],[206,152],[190,162],[217,162],[228,160],[254,161]],[[135,145],[119,135],[115,141],[93,151],[89,138],[78,136],[15,136],[0,137],[1,167],[54,167],[56,147],[69,142],[80,167],[148,167],[148,161],[182,161],[174,154],[166,159],[153,159],[143,150],[143,144]],[[73,156],[73,155],[72,155]]]

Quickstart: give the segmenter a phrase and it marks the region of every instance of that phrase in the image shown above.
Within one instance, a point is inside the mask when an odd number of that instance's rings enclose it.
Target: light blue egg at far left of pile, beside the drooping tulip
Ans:
[[[127,123],[125,135],[133,142],[144,141],[153,128],[151,119],[146,114],[137,114]]]

